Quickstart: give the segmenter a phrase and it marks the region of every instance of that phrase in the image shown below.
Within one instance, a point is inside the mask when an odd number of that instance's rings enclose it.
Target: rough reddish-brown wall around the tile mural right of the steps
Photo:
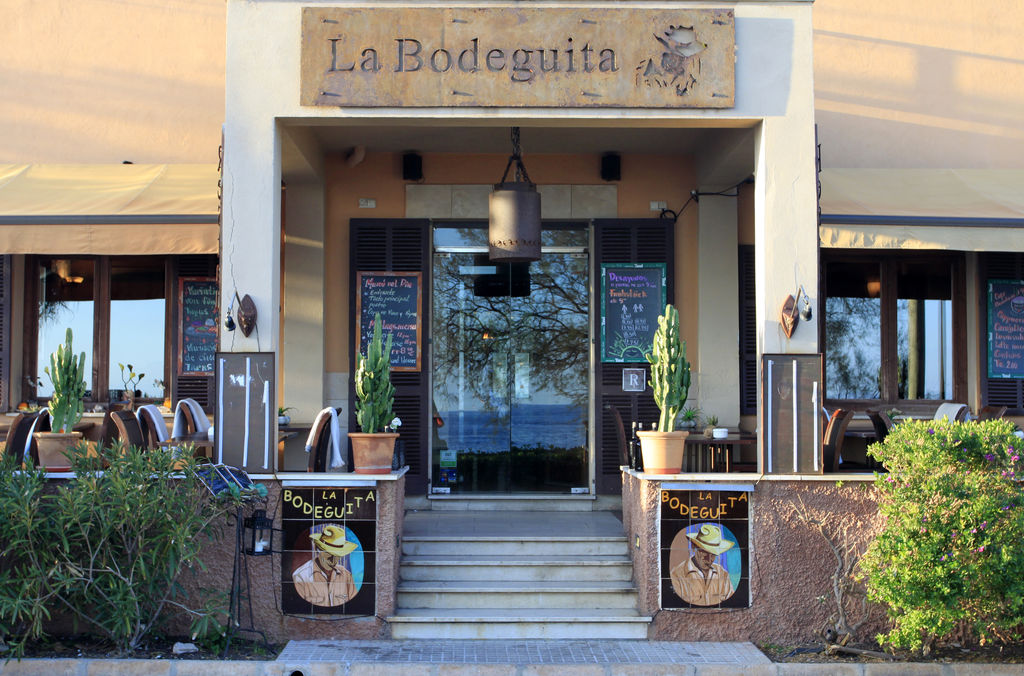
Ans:
[[[812,640],[833,611],[831,578],[836,558],[826,541],[794,517],[802,503],[818,517],[849,515],[853,534],[879,525],[871,485],[863,481],[761,480],[751,496],[751,606],[719,609],[660,609],[659,529],[662,483],[623,475],[623,520],[633,553],[639,609],[653,616],[655,640],[799,643]],[[715,484],[709,483],[709,490]],[[639,547],[637,547],[639,536]],[[869,637],[884,627],[884,612],[869,608],[859,628]],[[851,620],[856,621],[859,614]]]

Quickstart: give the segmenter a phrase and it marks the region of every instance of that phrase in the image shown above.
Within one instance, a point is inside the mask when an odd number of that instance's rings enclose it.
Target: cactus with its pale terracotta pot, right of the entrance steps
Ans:
[[[640,431],[640,452],[644,471],[676,474],[683,466],[683,448],[689,432],[676,430],[679,415],[690,391],[690,363],[686,341],[679,339],[679,312],[672,305],[657,318],[651,351],[644,355],[650,364],[650,386],[654,404],[662,412],[654,431]]]

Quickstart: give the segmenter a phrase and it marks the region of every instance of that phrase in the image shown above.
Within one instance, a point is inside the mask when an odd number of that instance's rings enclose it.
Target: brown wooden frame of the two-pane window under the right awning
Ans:
[[[828,409],[845,408],[863,411],[871,408],[896,408],[903,414],[920,417],[934,414],[936,407],[944,402],[967,402],[967,281],[965,256],[962,252],[884,252],[862,250],[822,250],[819,269],[819,287],[821,293],[821,311],[818,316],[818,332],[820,335],[823,365],[827,364],[828,354],[825,349],[825,306],[828,298],[826,270],[829,263],[874,263],[881,273],[882,299],[882,392],[879,398],[842,399],[828,397],[825,407]],[[950,399],[901,399],[898,398],[898,364],[897,356],[897,265],[902,262],[925,262],[949,265],[951,278],[950,299],[952,306],[952,384],[953,392]],[[827,369],[825,369],[827,372]],[[827,376],[825,376],[827,378]],[[827,381],[824,384],[828,391]]]

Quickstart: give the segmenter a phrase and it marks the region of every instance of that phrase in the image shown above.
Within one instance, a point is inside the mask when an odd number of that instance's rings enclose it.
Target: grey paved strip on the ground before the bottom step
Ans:
[[[766,665],[749,642],[615,640],[289,641],[278,662],[506,665]]]

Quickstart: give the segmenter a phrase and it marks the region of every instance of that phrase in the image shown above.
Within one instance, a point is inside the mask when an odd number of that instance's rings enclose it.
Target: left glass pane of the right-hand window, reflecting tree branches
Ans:
[[[881,396],[881,302],[828,298],[825,304],[825,382],[834,399]]]

